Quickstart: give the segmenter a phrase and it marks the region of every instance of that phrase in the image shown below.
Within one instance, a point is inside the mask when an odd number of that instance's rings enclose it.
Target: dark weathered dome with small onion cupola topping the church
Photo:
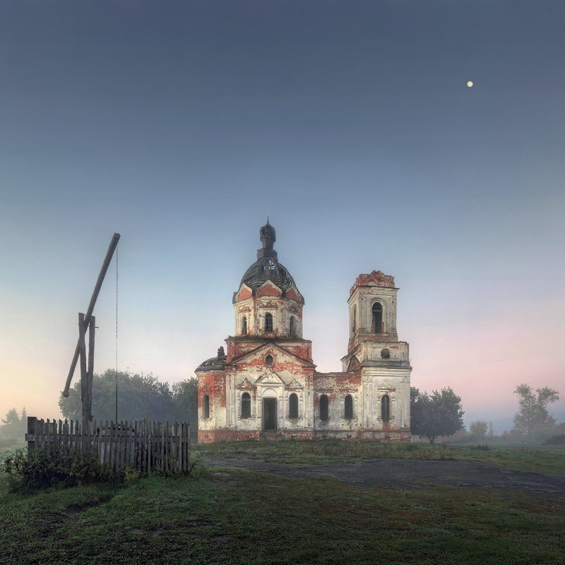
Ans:
[[[252,290],[256,290],[270,280],[283,292],[291,288],[298,290],[288,269],[278,262],[277,252],[273,249],[276,241],[275,228],[269,224],[268,220],[266,225],[259,230],[259,234],[263,247],[257,251],[257,261],[245,271],[239,288],[245,284]]]

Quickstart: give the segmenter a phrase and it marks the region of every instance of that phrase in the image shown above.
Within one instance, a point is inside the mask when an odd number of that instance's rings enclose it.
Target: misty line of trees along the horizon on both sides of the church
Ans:
[[[95,420],[116,419],[116,383],[118,420],[186,421],[192,423],[191,436],[198,432],[198,380],[195,377],[174,383],[162,382],[153,374],[130,374],[128,371],[107,369],[93,378],[93,417]],[[535,391],[526,385],[516,387],[520,410],[514,417],[514,427],[504,432],[510,441],[542,441],[559,431],[557,422],[547,412],[547,406],[559,400],[559,392],[547,386]],[[69,397],[62,393],[59,408],[65,418],[81,419],[81,383],[76,381]],[[463,427],[461,398],[450,387],[431,394],[410,389],[410,429],[412,435],[429,439],[431,444],[440,436],[451,436]],[[27,431],[27,413],[15,408],[2,419],[0,436],[22,441]],[[562,426],[563,424],[561,424]],[[472,422],[469,436],[484,439],[488,424]]]

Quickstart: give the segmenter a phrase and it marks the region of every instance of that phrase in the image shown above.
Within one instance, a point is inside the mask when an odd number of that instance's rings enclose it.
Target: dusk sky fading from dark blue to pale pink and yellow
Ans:
[[[114,232],[95,372],[194,376],[268,216],[319,371],[382,270],[412,386],[565,421],[564,63],[553,0],[2,1],[0,415],[60,417]]]

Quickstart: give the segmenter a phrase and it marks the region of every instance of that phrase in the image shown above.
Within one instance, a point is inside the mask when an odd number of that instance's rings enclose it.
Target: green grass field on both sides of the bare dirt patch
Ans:
[[[420,447],[401,456],[435,458],[451,451]],[[201,453],[295,464],[355,458],[357,448],[363,446],[198,446]],[[562,447],[542,448],[543,457],[513,448],[453,451],[450,456],[488,457],[514,468],[538,460],[548,474],[559,465],[562,470],[565,460]],[[0,474],[0,500],[3,565],[530,565],[561,564],[565,554],[562,501],[542,504],[523,492],[509,496],[429,484],[416,491],[367,489],[327,478],[223,468],[198,480],[145,477],[121,489],[96,484],[28,496],[11,493]]]

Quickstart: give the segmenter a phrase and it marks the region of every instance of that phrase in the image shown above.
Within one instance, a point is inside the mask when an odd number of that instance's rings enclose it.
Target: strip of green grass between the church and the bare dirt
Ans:
[[[203,456],[248,457],[290,465],[324,465],[359,458],[393,457],[417,460],[465,460],[494,463],[505,468],[565,477],[565,446],[469,446],[429,444],[384,444],[379,441],[283,441],[232,444],[198,444]]]

